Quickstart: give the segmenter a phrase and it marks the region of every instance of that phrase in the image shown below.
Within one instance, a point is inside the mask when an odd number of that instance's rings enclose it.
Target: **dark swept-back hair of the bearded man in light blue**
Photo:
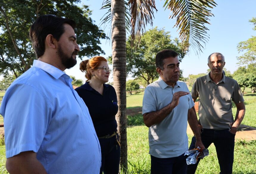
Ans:
[[[29,36],[37,58],[44,54],[47,35],[51,34],[57,41],[60,40],[64,33],[64,23],[69,24],[73,29],[76,27],[76,22],[72,19],[60,18],[54,15],[42,15],[32,24]]]

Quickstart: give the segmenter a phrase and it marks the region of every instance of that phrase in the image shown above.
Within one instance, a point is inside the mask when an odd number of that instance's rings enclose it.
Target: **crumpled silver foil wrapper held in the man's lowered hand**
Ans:
[[[190,164],[196,164],[197,159],[200,157],[203,159],[205,156],[209,155],[208,149],[202,149],[197,147],[195,149],[191,149],[185,152],[184,155],[188,155],[188,158],[186,158],[186,162],[188,165]]]

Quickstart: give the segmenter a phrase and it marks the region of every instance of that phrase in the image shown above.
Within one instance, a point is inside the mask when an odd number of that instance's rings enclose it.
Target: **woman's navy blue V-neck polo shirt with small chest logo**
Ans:
[[[118,105],[115,89],[108,84],[103,84],[103,87],[103,95],[94,90],[89,82],[75,89],[89,109],[98,137],[112,134],[117,130],[115,115]]]

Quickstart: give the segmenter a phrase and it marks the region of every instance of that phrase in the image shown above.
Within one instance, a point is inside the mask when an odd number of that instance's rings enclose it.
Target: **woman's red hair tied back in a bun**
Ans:
[[[92,74],[90,72],[91,69],[97,68],[102,61],[107,62],[107,59],[101,56],[95,56],[91,59],[84,60],[80,63],[79,69],[84,73],[86,81],[89,81],[92,78]]]

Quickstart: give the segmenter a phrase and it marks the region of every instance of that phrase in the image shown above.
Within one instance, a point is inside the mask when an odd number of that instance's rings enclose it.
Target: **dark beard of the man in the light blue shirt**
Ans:
[[[71,57],[68,57],[67,54],[64,53],[63,49],[60,47],[58,47],[58,55],[61,59],[61,63],[62,65],[64,65],[67,69],[72,68],[73,66],[75,66],[77,64],[77,60],[73,58],[73,55],[77,55],[78,51],[73,51],[73,53],[71,54]]]

